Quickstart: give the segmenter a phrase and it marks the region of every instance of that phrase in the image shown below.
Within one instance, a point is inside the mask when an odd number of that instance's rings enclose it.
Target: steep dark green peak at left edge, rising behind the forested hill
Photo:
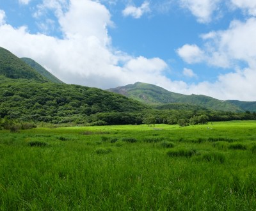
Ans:
[[[19,59],[12,52],[0,47],[0,74],[10,79],[33,79],[38,82],[48,82],[31,66]]]

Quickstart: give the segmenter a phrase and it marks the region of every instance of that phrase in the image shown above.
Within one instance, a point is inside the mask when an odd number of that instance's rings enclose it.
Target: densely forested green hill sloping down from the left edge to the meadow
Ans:
[[[1,118],[81,123],[97,121],[92,119],[93,114],[138,113],[147,108],[140,102],[97,88],[7,79],[3,75],[0,81]]]

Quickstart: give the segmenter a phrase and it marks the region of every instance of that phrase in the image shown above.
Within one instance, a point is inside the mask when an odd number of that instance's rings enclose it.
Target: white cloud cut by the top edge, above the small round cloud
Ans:
[[[180,0],[181,6],[190,10],[198,22],[211,22],[213,13],[218,10],[220,0]]]

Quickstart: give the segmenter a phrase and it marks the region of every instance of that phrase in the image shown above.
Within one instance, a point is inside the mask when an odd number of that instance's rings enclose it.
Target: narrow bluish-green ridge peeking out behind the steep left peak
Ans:
[[[33,59],[30,59],[30,58],[20,58],[20,59],[25,63],[27,63],[29,66],[31,66],[33,69],[35,69],[36,72],[38,72],[40,75],[43,75],[45,78],[47,78],[49,81],[55,82],[57,84],[63,84],[63,82],[60,81],[60,79],[58,79],[57,77],[52,75],[50,72],[45,70],[44,67],[36,63],[36,61],[34,61]]]

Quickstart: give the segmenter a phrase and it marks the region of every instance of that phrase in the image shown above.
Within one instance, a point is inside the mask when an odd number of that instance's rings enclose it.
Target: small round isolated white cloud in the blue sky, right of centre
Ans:
[[[199,63],[204,59],[204,52],[197,45],[183,45],[177,49],[177,53],[189,64]]]

